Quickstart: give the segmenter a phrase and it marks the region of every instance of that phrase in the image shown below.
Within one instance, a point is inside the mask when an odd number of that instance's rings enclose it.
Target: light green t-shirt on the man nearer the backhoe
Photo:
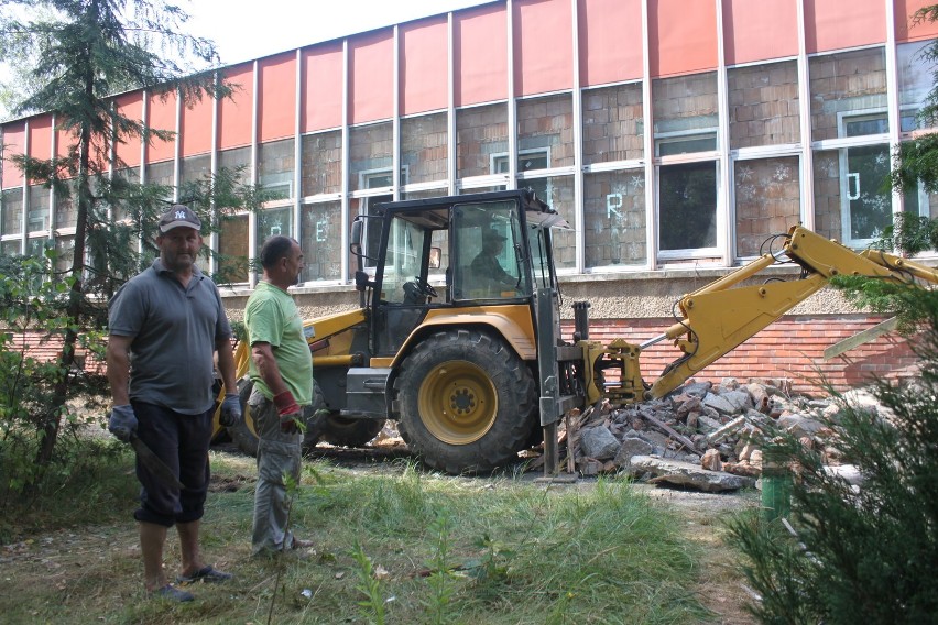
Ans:
[[[303,333],[303,320],[293,297],[282,288],[260,282],[248,298],[244,309],[248,342],[270,343],[280,368],[280,375],[296,403],[306,406],[313,402],[313,358]],[[250,364],[251,381],[268,399],[273,393],[261,379],[254,360]]]

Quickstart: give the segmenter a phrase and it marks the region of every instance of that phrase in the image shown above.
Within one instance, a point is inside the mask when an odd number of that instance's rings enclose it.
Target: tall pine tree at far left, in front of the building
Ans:
[[[39,88],[13,112],[54,114],[56,129],[64,131],[68,145],[64,157],[41,161],[18,155],[8,162],[21,167],[28,179],[54,187],[58,197],[70,196],[77,205],[64,311],[67,324],[52,399],[53,407],[62,407],[69,393],[68,372],[80,328],[103,326],[100,301],[141,268],[145,259],[135,253],[137,243],[146,245],[152,240],[155,215],[165,209],[162,198],[167,190],[128,179],[126,164],[112,147],[129,140],[170,140],[173,132],[146,128],[141,120],[127,117],[113,106],[111,96],[145,88],[163,97],[176,94],[184,106],[192,106],[203,97],[228,96],[231,87],[212,70],[219,62],[212,42],[182,32],[188,15],[164,0],[7,2],[7,9],[12,6],[45,9],[31,12],[28,20],[0,18],[4,43],[9,45],[15,37],[35,59],[31,75]],[[229,206],[257,202],[251,193],[239,195],[232,180],[222,175],[186,193],[194,208],[204,211],[214,205],[219,190],[228,193]],[[130,218],[126,224],[114,224],[109,216],[118,209]],[[152,249],[144,250],[144,256],[148,252],[152,254]],[[37,424],[36,462],[41,467],[53,457],[61,423],[62,409],[53,409]]]

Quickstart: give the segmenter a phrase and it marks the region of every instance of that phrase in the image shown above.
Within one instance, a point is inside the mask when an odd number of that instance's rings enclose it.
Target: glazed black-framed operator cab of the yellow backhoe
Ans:
[[[552,227],[569,228],[528,189],[384,202],[357,217],[351,250],[374,354],[397,353],[432,310],[533,306],[537,288],[556,286]]]

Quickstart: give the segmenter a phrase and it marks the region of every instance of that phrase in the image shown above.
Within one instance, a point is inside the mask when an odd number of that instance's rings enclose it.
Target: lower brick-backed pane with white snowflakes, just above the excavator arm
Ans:
[[[737,256],[766,253],[763,242],[800,218],[798,157],[737,161],[733,165]]]

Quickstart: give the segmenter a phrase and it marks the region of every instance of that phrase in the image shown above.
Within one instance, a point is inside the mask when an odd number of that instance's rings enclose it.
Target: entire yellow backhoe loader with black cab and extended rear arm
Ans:
[[[317,397],[306,445],[363,445],[394,419],[411,450],[448,473],[491,471],[542,440],[545,471],[556,472],[557,424],[567,412],[664,396],[831,276],[938,282],[930,267],[857,253],[795,226],[777,251],[684,296],[679,318],[659,337],[591,341],[588,305],[576,303],[569,342],[560,336],[554,228],[569,226],[530,190],[385,202],[356,218],[360,307],[305,322]],[[743,284],[781,262],[796,263],[800,275]],[[428,278],[439,270],[437,290]],[[647,381],[642,350],[665,340],[679,355]],[[238,346],[239,376],[249,353]],[[246,398],[250,381],[239,386]],[[255,451],[250,413],[231,435]]]

